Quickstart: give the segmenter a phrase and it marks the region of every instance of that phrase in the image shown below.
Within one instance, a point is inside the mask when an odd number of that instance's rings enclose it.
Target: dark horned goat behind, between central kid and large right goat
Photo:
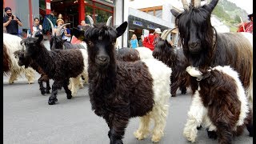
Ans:
[[[168,30],[166,36],[171,32]],[[189,62],[183,54],[182,49],[176,49],[166,41],[166,37],[159,39],[154,46],[153,57],[164,62],[173,71],[171,74],[171,96],[176,96],[176,91],[179,89],[182,94],[186,94],[186,87],[190,86],[190,74],[187,74],[186,67]]]

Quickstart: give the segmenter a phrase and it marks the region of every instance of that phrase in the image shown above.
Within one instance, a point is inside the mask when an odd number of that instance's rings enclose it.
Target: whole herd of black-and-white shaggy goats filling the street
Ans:
[[[221,144],[231,143],[245,128],[252,137],[253,35],[217,33],[210,23],[217,3],[212,0],[200,6],[200,1],[189,5],[182,0],[184,11],[171,10],[180,48],[166,41],[171,30],[164,30],[153,52],[145,47],[116,49],[116,39],[126,31],[127,22],[114,28],[109,26],[110,18],[107,24],[78,30],[76,37],[86,42],[86,47],[62,40],[66,24],[55,34],[53,31],[51,50],[42,44],[42,35],[22,39],[3,34],[3,70],[10,74],[10,83],[21,72],[29,83],[34,82],[36,70],[41,74],[41,93],[50,94],[50,105],[58,101],[62,87],[70,99],[87,83],[92,110],[106,120],[111,144],[122,143],[129,119],[134,117],[140,118],[134,136],[146,138],[153,120],[151,140],[159,142],[169,98],[176,96],[178,88],[186,94],[189,86],[193,99],[183,130],[188,141],[195,142],[201,126],[206,127],[209,138],[217,138]],[[54,80],[51,88],[50,78]]]

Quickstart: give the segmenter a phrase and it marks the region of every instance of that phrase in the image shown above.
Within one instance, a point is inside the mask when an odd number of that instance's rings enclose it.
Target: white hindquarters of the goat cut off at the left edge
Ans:
[[[21,45],[22,38],[3,33],[3,44],[6,46],[7,52],[10,56],[10,79],[9,83],[14,83],[21,73],[25,73],[25,76],[29,83],[34,82],[34,70],[30,67],[25,69],[25,66],[18,66],[18,59],[14,56],[14,51],[24,50],[25,46]]]

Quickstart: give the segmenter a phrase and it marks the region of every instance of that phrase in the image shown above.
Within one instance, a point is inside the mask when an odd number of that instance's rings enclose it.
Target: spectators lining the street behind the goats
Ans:
[[[8,34],[14,34],[18,35],[18,26],[22,26],[22,21],[20,18],[18,18],[16,15],[12,14],[12,10],[10,7],[5,8],[5,16],[3,17],[3,27],[6,28],[6,33]],[[241,22],[238,25],[238,30],[237,32],[248,32],[253,34],[253,14],[248,15],[249,22]],[[34,34],[35,31],[38,30],[37,34],[35,35],[36,37],[39,34],[42,34],[42,25],[39,23],[40,19],[39,18],[34,18],[34,26],[32,27],[31,34]],[[56,26],[54,26],[54,31],[58,29],[59,26],[62,26],[64,24],[64,20],[62,18],[62,14],[58,15],[58,19],[56,21]],[[82,20],[80,25],[78,25],[78,30],[83,30],[85,26],[90,26],[89,24],[86,24],[85,20]],[[78,38],[75,38],[74,36],[71,36],[70,28],[64,26],[63,27],[63,39],[66,39],[66,42],[71,42],[71,43],[80,43]],[[159,28],[156,28],[154,30],[154,33],[147,35],[145,38],[143,35],[141,35],[141,38],[138,40],[136,34],[132,34],[132,37],[130,39],[130,48],[137,48],[140,46],[145,46],[149,48],[150,50],[154,50],[154,45],[156,42],[158,42],[158,38],[160,38],[160,35],[162,34],[162,31]],[[170,44],[174,46],[173,42],[170,41]]]

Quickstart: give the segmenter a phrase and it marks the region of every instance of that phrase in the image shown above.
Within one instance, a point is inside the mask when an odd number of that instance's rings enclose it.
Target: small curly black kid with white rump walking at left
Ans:
[[[41,43],[42,35],[36,38],[26,38],[22,40],[26,46],[25,57],[30,57],[38,66],[54,80],[52,93],[49,98],[49,105],[58,101],[58,89],[62,86],[66,91],[66,98],[72,98],[71,91],[68,89],[69,78],[80,78],[82,72],[87,70],[87,52],[84,49],[70,50],[47,50]]]

